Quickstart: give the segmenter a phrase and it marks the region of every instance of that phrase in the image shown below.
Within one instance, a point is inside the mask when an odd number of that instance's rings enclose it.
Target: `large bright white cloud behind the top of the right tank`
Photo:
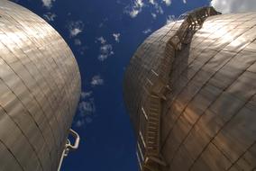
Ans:
[[[223,14],[256,11],[255,0],[213,0],[211,5]]]

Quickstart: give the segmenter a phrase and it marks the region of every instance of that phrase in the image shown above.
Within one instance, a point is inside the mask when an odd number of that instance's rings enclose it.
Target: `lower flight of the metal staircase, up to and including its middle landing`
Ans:
[[[140,130],[138,139],[138,142],[144,142],[138,143],[138,148],[143,151],[140,153],[142,171],[158,171],[160,166],[166,166],[163,158],[160,157],[161,101],[164,99],[162,94],[166,87],[153,70],[151,71],[151,80],[155,80],[155,84],[151,85],[149,80],[149,84],[146,86],[149,90],[148,95],[142,105],[144,118],[141,121],[143,121],[145,131]]]

